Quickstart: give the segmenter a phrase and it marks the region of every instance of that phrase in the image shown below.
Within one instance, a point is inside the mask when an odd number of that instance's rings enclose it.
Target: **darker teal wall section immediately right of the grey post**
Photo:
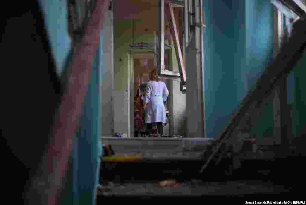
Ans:
[[[203,1],[206,137],[215,138],[237,106],[232,1]],[[222,14],[222,15],[220,15]]]

